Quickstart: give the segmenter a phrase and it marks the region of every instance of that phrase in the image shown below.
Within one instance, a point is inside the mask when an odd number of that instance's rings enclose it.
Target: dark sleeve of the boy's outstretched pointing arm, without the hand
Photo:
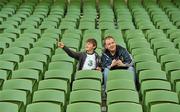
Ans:
[[[69,49],[68,47],[64,46],[63,50],[72,58],[75,58],[76,60],[79,60],[79,57],[81,55],[80,52],[74,52],[73,50]]]

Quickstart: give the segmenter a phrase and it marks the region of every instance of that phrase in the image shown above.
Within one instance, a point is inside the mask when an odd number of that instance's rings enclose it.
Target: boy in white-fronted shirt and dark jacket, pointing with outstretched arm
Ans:
[[[59,42],[58,47],[62,48],[70,57],[79,61],[78,70],[101,70],[101,59],[95,52],[97,47],[97,42],[95,39],[88,39],[86,41],[84,52],[74,52],[66,47],[63,42]]]

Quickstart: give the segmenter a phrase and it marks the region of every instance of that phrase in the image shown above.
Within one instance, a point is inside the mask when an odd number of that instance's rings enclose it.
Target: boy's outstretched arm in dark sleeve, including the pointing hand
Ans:
[[[74,52],[73,50],[69,49],[64,45],[64,43],[59,42],[58,47],[62,48],[70,57],[79,60],[80,54],[79,52]]]

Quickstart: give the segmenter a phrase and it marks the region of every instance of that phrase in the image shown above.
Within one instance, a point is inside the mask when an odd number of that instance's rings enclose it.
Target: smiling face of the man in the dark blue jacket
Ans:
[[[114,39],[106,39],[105,48],[108,49],[110,52],[116,51],[116,42],[114,41]]]

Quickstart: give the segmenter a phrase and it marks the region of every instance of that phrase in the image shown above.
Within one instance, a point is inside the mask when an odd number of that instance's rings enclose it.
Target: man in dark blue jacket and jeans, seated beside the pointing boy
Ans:
[[[109,70],[129,69],[134,72],[133,62],[128,51],[120,45],[117,45],[112,36],[104,39],[105,50],[102,53],[102,68],[104,75],[104,90],[106,91],[106,82]]]

